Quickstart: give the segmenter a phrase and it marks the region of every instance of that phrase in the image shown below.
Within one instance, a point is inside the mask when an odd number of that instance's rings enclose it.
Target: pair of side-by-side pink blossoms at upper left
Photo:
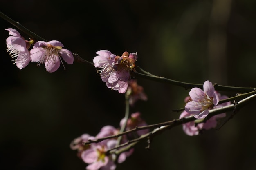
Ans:
[[[37,65],[45,64],[46,71],[56,71],[62,62],[61,57],[68,64],[73,64],[73,54],[64,49],[61,42],[53,40],[49,42],[34,40],[25,40],[16,29],[5,29],[9,31],[6,39],[7,52],[11,55],[11,59],[19,69],[25,68],[29,62],[37,62]],[[32,49],[31,45],[33,45]],[[63,65],[64,66],[64,65]],[[65,68],[65,67],[64,67]]]

